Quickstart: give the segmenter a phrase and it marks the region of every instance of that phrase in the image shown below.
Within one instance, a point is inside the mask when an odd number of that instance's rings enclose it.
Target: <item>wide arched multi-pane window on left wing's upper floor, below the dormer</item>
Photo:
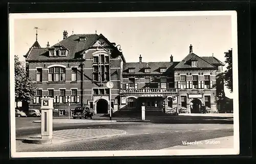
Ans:
[[[63,67],[51,67],[48,70],[48,81],[65,81],[66,73]]]

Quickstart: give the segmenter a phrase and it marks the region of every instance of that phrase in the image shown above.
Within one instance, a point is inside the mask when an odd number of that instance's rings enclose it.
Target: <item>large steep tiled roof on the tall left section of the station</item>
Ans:
[[[86,40],[79,41],[79,37],[85,37]],[[58,59],[76,59],[79,56],[79,53],[92,46],[98,37],[97,34],[74,34],[59,43],[56,43],[55,45],[62,45],[69,49],[67,57],[58,57]],[[50,48],[54,48],[55,45]],[[32,48],[28,52],[29,55],[26,60],[56,60],[56,58],[48,57],[48,54],[46,53],[47,51],[48,48]]]

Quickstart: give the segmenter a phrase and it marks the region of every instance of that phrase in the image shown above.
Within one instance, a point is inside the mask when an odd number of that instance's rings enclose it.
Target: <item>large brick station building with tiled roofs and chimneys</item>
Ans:
[[[27,75],[37,85],[37,96],[30,108],[40,109],[40,98],[54,98],[54,114],[67,115],[76,106],[88,106],[95,114],[118,110],[165,113],[184,108],[198,113],[203,103],[217,110],[216,75],[224,66],[215,57],[193,53],[181,61],[126,63],[119,45],[102,34],[63,32],[63,40],[40,47],[36,40],[25,54]],[[111,79],[110,79],[111,74]],[[111,80],[110,90],[106,83]],[[223,86],[223,85],[222,85]]]

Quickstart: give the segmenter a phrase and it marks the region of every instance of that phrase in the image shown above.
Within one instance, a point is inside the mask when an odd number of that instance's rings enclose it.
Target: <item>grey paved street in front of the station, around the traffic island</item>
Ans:
[[[40,119],[40,118],[34,118]],[[32,123],[33,118],[16,118],[16,123],[30,125],[33,128],[18,129],[17,139],[28,134],[40,133],[40,124]],[[17,121],[18,120],[18,121]],[[18,125],[20,127],[20,125]],[[181,145],[182,141],[221,138],[233,135],[232,124],[166,124],[111,122],[97,124],[54,124],[54,130],[60,129],[119,129],[126,134],[93,140],[74,141],[62,144],[35,145],[17,140],[18,151],[97,151],[97,150],[156,150]],[[23,131],[26,131],[25,133]]]

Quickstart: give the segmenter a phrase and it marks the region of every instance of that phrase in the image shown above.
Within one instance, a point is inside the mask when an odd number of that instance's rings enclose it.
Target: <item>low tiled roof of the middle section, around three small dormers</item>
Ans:
[[[166,72],[169,69],[175,67],[179,62],[132,62],[132,63],[124,63],[123,64],[123,75],[125,74],[163,74],[160,72],[160,68],[167,68]],[[151,68],[149,73],[145,73],[145,68]],[[129,68],[134,68],[134,73],[129,73]]]

